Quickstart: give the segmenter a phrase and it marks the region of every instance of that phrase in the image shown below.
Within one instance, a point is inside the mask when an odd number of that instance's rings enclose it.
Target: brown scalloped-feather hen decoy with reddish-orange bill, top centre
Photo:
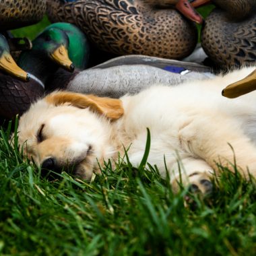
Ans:
[[[99,49],[182,59],[195,49],[197,29],[174,7],[202,22],[188,0],[47,1],[52,22],[76,24]]]

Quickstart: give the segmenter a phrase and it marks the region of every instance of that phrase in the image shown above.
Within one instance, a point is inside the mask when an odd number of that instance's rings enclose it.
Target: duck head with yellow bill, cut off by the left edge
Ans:
[[[22,81],[29,80],[28,73],[18,67],[13,60],[13,57],[11,57],[9,45],[5,36],[2,34],[0,34],[0,69],[13,77],[21,79]]]

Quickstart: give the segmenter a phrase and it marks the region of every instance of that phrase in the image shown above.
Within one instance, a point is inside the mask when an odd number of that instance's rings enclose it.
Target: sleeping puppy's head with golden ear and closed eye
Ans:
[[[113,152],[110,121],[122,115],[121,100],[53,92],[20,118],[19,145],[43,169],[68,168],[90,179],[97,161]]]

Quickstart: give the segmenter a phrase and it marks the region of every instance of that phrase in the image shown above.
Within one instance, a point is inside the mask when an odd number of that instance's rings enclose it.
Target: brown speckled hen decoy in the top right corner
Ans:
[[[222,68],[255,63],[256,0],[211,2],[217,7],[207,16],[201,31],[205,53]]]

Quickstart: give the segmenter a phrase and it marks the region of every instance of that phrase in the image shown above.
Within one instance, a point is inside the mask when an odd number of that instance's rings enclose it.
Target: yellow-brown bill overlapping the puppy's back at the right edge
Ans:
[[[256,69],[244,79],[230,84],[222,90],[222,96],[227,98],[237,98],[243,94],[248,94],[256,90]]]

